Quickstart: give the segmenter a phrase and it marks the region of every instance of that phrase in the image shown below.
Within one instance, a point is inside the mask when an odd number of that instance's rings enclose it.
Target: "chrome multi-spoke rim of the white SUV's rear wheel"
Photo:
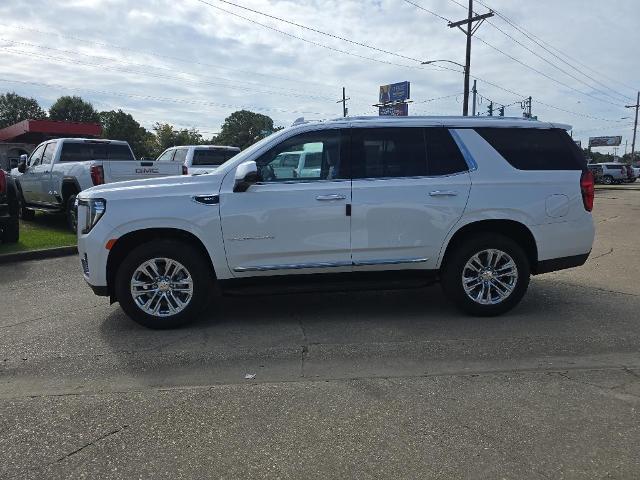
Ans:
[[[518,283],[518,267],[502,250],[476,253],[462,269],[462,285],[467,296],[481,305],[497,305],[511,295]]]

